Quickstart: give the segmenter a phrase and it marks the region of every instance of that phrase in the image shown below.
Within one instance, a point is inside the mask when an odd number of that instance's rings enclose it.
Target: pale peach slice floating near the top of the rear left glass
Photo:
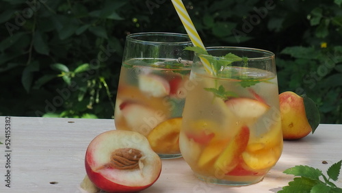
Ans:
[[[140,75],[138,84],[142,92],[146,92],[152,97],[165,97],[170,93],[170,84],[166,79],[158,75]]]

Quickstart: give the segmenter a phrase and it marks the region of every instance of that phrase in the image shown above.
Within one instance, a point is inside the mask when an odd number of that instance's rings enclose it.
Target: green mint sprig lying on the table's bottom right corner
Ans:
[[[327,170],[327,175],[317,168],[310,166],[294,166],[285,170],[283,173],[287,175],[299,176],[295,177],[289,185],[284,186],[278,193],[292,193],[292,192],[311,192],[311,193],[329,193],[342,192],[342,188],[338,188],[332,181],[337,181],[341,170],[342,160],[332,164]],[[323,181],[321,181],[321,178]],[[331,181],[332,180],[332,181]]]

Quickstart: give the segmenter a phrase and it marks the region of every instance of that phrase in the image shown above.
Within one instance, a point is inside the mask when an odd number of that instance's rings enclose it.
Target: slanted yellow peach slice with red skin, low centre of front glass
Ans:
[[[228,142],[228,145],[215,161],[215,168],[224,173],[233,170],[239,163],[239,156],[245,151],[250,138],[250,129],[243,126],[239,129],[236,136]]]

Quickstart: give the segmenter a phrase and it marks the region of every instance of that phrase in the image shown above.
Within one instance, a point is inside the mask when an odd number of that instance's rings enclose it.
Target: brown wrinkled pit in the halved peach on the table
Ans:
[[[142,157],[142,152],[133,148],[116,149],[111,153],[111,160],[108,164],[111,168],[121,170],[139,168],[139,159]]]

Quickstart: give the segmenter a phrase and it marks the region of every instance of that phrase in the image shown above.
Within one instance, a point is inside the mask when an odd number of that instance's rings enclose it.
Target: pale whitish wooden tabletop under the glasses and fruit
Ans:
[[[0,116],[0,192],[83,192],[79,184],[86,175],[88,144],[99,133],[115,129],[112,119],[11,117],[6,149],[5,124],[6,117]],[[282,156],[265,179],[243,187],[207,184],[194,177],[182,158],[164,159],[161,176],[142,192],[277,192],[293,179],[283,170],[308,165],[326,173],[342,159],[341,146],[342,125],[319,125],[313,135],[285,141]],[[335,184],[342,187],[342,174]]]

